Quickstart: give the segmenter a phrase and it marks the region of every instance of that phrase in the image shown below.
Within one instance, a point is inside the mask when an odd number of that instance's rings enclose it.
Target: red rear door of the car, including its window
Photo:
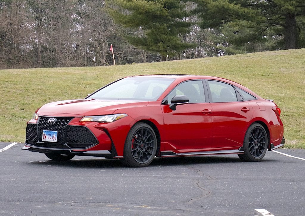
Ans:
[[[206,80],[213,113],[213,148],[242,146],[252,106],[226,82]]]

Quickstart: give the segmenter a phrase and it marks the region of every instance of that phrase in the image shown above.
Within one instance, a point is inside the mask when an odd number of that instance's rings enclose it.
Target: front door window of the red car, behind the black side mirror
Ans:
[[[177,85],[167,96],[168,103],[176,95],[188,97],[188,103],[204,103],[204,90],[201,80],[192,80]]]

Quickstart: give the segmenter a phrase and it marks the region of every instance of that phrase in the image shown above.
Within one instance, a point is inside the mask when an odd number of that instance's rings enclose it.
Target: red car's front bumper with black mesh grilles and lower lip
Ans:
[[[28,122],[23,150],[98,157],[117,156],[113,141],[106,130],[92,127],[92,124],[80,124],[81,117],[55,117],[54,125],[47,123],[49,118],[39,116],[37,121]],[[43,130],[58,131],[57,141],[42,141]]]

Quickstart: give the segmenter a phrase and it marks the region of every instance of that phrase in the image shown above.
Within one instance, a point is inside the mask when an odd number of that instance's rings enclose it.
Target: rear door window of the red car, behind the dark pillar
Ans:
[[[235,102],[237,101],[236,92],[232,85],[224,82],[208,80],[212,102]]]

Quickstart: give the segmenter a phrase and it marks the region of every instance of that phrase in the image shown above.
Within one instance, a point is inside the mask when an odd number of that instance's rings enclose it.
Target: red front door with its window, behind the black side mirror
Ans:
[[[205,102],[204,94],[202,80],[192,80],[179,84],[167,96],[169,103],[161,105],[164,120],[163,151],[196,152],[211,147],[212,110],[210,103]],[[187,96],[189,103],[171,110],[170,99],[175,95]]]

